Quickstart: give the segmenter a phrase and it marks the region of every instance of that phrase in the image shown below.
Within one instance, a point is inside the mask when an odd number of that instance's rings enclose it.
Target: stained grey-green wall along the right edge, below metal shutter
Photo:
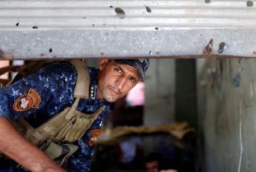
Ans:
[[[203,171],[256,171],[256,60],[208,59],[198,76]]]

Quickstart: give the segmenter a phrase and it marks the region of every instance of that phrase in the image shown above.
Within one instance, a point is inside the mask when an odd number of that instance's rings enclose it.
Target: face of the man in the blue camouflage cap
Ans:
[[[125,96],[139,81],[141,76],[136,68],[120,65],[114,60],[101,59],[97,98],[114,102]]]

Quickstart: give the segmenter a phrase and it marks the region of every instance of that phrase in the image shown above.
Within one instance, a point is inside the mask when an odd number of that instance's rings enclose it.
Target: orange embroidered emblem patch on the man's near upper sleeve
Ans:
[[[30,108],[37,108],[41,102],[41,97],[35,89],[30,88],[27,94],[23,94],[13,104],[16,111],[24,111]]]

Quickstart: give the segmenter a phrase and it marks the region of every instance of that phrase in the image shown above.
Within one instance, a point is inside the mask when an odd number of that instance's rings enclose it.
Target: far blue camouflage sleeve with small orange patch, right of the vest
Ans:
[[[97,137],[98,132],[102,127],[105,116],[110,112],[110,107],[106,108],[93,122],[92,126],[85,132],[85,135],[81,140],[77,141],[79,149],[73,154],[68,160],[68,171],[69,172],[89,172],[92,164],[92,156],[94,154],[94,143],[92,138]],[[90,142],[90,143],[89,143]]]

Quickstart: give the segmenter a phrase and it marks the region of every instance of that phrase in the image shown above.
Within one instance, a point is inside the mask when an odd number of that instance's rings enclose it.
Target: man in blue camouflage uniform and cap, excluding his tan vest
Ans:
[[[78,149],[68,159],[68,171],[90,170],[94,143],[105,115],[114,101],[144,80],[148,66],[148,59],[101,59],[98,69],[88,68],[89,98],[81,98],[75,108],[87,114],[96,113],[102,106],[105,109],[75,142]],[[0,171],[65,171],[24,139],[10,121],[24,119],[31,128],[39,128],[66,107],[73,107],[77,78],[72,63],[55,62],[0,90],[0,152],[9,157],[0,160]]]

